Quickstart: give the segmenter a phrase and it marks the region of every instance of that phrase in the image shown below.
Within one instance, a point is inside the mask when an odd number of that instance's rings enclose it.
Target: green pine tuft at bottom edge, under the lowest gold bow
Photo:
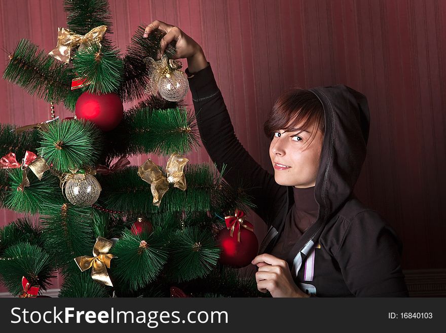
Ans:
[[[59,291],[59,297],[99,298],[109,297],[105,286],[97,283],[87,272],[66,274]]]

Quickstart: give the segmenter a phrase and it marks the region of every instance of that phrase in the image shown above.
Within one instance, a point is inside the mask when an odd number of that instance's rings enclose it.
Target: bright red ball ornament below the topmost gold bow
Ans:
[[[95,95],[84,92],[76,102],[76,117],[95,123],[103,131],[118,126],[123,113],[122,101],[114,93]]]

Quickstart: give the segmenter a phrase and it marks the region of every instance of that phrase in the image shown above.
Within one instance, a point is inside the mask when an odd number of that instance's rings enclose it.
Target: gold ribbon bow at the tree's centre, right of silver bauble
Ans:
[[[169,183],[173,183],[174,188],[178,188],[182,191],[187,189],[183,169],[188,162],[189,160],[187,158],[172,154],[169,161],[167,161],[167,177],[164,176],[158,165],[152,162],[151,159],[147,159],[147,161],[138,168],[138,175],[142,180],[151,184],[151,191],[154,197],[153,204],[155,206],[160,206],[161,199],[169,190]]]

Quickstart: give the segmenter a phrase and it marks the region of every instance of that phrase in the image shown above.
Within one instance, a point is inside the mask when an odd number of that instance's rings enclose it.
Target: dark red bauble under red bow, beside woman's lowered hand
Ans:
[[[252,225],[245,221],[245,225]],[[258,241],[255,234],[245,228],[240,230],[240,242],[237,241],[237,233],[231,237],[231,231],[222,229],[217,234],[217,241],[221,248],[220,263],[233,268],[241,268],[251,264],[258,251]]]

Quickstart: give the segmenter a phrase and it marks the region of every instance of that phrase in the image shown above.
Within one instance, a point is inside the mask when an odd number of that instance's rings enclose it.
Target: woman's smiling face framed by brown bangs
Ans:
[[[306,130],[277,130],[270,144],[274,178],[279,185],[309,188],[315,186],[323,135],[316,126]],[[310,144],[311,131],[316,131]]]

